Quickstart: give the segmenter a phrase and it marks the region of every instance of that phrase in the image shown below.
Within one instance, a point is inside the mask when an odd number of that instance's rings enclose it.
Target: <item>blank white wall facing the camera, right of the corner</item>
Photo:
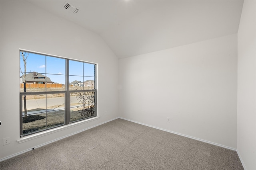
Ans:
[[[120,117],[236,149],[236,34],[120,59],[119,83]]]

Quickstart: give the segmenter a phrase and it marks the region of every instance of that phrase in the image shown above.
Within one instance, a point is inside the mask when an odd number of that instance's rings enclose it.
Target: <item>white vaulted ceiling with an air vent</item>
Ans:
[[[28,1],[100,35],[118,58],[238,32],[240,0]],[[65,2],[79,9],[63,8]]]

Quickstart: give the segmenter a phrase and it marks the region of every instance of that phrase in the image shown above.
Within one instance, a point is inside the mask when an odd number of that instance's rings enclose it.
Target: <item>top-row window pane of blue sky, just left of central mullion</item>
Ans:
[[[46,56],[46,73],[47,74],[66,74],[66,59]],[[62,82],[64,84],[64,82]]]

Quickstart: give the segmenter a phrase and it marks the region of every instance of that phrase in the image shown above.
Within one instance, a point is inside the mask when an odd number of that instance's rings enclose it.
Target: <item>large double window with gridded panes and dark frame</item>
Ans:
[[[96,64],[20,51],[20,137],[96,116]]]

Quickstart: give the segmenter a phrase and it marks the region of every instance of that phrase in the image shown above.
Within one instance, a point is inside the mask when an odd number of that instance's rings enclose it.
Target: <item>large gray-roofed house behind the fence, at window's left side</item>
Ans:
[[[20,77],[20,83],[23,83],[22,78],[24,75]],[[26,83],[30,84],[54,84],[49,77],[44,76],[38,72],[30,72],[26,74]]]

